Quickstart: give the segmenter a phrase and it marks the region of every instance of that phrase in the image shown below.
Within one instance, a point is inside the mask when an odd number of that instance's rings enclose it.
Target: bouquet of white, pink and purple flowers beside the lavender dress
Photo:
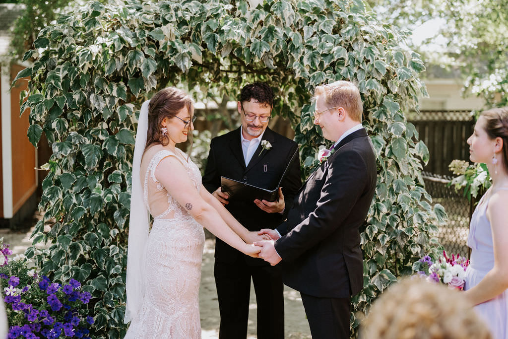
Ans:
[[[435,262],[432,262],[429,256],[425,256],[414,263],[412,269],[429,282],[442,283],[450,288],[462,290],[468,265],[469,260],[464,257],[457,254],[449,258],[443,251],[443,255],[439,256]]]

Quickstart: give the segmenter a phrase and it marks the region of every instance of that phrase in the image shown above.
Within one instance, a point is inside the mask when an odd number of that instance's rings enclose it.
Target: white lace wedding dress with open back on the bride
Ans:
[[[178,148],[176,152],[156,152],[144,181],[141,180],[144,203],[153,216],[153,225],[143,260],[142,308],[134,316],[125,338],[201,338],[199,285],[205,242],[203,227],[155,178],[155,168],[161,160],[173,156],[185,166],[196,189],[200,189],[198,167],[190,160],[186,162],[187,156]]]

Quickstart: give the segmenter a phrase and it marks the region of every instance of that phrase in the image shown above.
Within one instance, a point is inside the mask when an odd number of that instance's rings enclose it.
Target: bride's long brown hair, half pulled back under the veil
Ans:
[[[166,117],[174,117],[183,107],[187,107],[191,117],[194,115],[194,102],[183,90],[166,87],[155,93],[148,105],[146,147],[151,144],[166,146],[169,143],[168,136],[161,133],[162,121]],[[189,140],[191,137],[189,133]],[[192,144],[192,140],[190,142]]]

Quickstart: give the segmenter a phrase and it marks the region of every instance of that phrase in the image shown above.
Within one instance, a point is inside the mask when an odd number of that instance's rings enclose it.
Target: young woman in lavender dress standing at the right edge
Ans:
[[[465,296],[494,339],[508,339],[508,107],[482,112],[467,139],[469,159],[486,163],[492,186],[471,218]]]

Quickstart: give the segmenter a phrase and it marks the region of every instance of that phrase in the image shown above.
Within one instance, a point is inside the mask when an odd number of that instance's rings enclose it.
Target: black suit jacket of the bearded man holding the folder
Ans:
[[[272,148],[263,149],[260,142],[250,162],[245,166],[240,133],[241,128],[238,128],[212,139],[202,180],[203,186],[210,193],[220,186],[220,176],[244,181],[264,189],[275,189],[282,172],[298,148],[296,142],[267,128],[262,140],[269,141]],[[241,202],[234,199],[231,199],[225,207],[249,231],[259,231],[262,228],[274,229],[285,219],[295,194],[301,186],[299,159],[297,154],[280,184],[286,204],[285,213],[267,213],[253,202]],[[216,260],[236,262],[240,257],[244,257],[247,264],[268,265],[262,259],[245,256],[222,240],[216,239]]]

